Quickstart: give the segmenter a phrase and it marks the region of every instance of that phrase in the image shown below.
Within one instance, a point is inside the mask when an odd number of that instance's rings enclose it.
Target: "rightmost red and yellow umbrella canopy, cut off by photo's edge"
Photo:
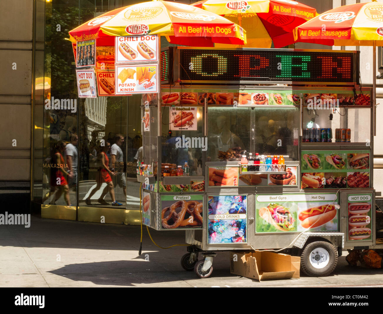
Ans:
[[[335,46],[383,46],[383,3],[344,5],[298,26],[296,41]]]

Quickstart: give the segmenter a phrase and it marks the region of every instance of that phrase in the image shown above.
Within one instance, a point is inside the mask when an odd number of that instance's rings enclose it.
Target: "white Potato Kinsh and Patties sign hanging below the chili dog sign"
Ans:
[[[116,95],[156,93],[158,79],[157,64],[116,65]]]

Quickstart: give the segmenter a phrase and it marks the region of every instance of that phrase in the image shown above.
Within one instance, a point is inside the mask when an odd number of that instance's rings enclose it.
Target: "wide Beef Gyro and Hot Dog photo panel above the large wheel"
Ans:
[[[255,232],[337,231],[336,194],[257,195]]]

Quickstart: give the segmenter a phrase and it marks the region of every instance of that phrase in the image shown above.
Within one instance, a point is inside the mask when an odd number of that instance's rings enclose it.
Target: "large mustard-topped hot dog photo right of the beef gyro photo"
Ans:
[[[311,207],[311,205],[313,205]],[[340,205],[329,203],[300,203],[298,205],[298,231],[338,230],[338,211]]]

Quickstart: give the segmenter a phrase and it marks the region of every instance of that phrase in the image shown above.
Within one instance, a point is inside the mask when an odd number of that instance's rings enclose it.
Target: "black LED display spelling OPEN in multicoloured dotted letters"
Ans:
[[[356,82],[357,77],[357,53],[354,52],[179,51],[180,79],[184,81]]]

